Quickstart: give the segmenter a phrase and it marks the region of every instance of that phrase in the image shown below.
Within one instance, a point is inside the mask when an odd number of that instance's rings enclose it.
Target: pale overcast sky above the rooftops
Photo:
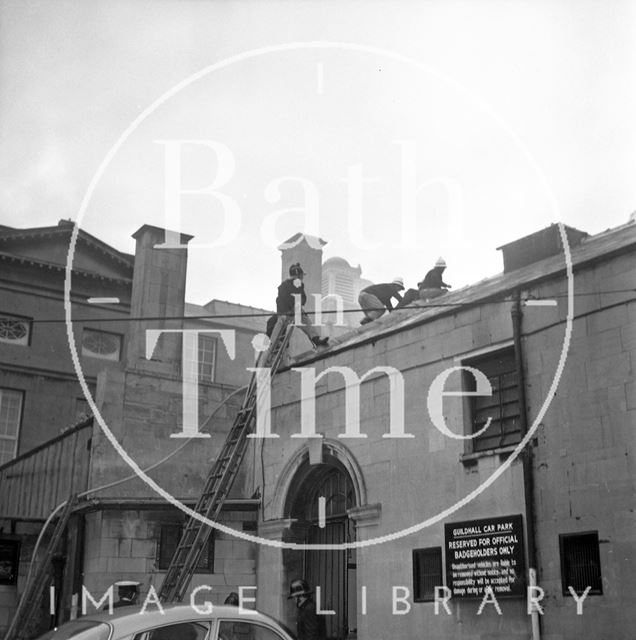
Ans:
[[[466,286],[636,210],[635,32],[620,0],[5,0],[0,224],[188,233],[198,304],[272,308],[297,231]]]

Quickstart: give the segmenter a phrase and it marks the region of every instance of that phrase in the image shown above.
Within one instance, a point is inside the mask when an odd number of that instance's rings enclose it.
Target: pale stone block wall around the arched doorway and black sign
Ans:
[[[627,640],[636,622],[630,604],[636,587],[635,275],[633,253],[578,268],[574,290],[580,295],[574,298],[571,335],[565,322],[564,278],[522,292],[523,298],[557,302],[556,306],[522,307],[528,423],[537,427],[530,446],[534,452],[538,579],[546,592],[541,625],[543,637],[550,640]],[[412,439],[383,438],[389,431],[385,376],[361,384],[360,422],[366,436],[362,438],[339,437],[345,424],[342,376],[330,373],[316,386],[317,433],[325,436],[325,443],[339,442],[346,447],[365,485],[367,505],[379,505],[375,518],[358,522],[359,540],[389,535],[433,518],[481,486],[510,454],[471,454],[469,444],[434,428],[426,400],[433,379],[442,371],[481,350],[511,345],[512,305],[510,298],[484,302],[305,364],[317,373],[346,366],[363,375],[374,366],[389,365],[403,374],[406,431],[415,436]],[[565,358],[563,345],[568,336],[571,343]],[[448,390],[459,389],[459,379],[453,376],[448,379]],[[285,494],[293,483],[293,475],[287,474],[289,466],[309,448],[315,449],[314,444],[290,437],[300,432],[299,398],[299,372],[277,375],[272,428],[281,437],[263,445],[266,521],[261,523],[264,535],[277,540],[285,539],[285,532],[290,531],[285,521],[289,514],[284,510]],[[466,401],[449,397],[443,406],[449,429],[465,433],[469,428]],[[261,474],[258,464],[255,472],[256,485]],[[359,549],[358,593],[362,585],[367,587],[368,613],[358,615],[358,637],[416,637],[425,628],[431,639],[528,638],[530,617],[525,599],[500,599],[502,616],[492,605],[478,615],[479,600],[451,602],[452,615],[443,610],[435,615],[432,603],[411,600],[407,615],[391,615],[391,588],[413,587],[412,550],[443,546],[444,522],[513,514],[526,518],[518,459],[461,509],[408,536]],[[561,593],[559,535],[586,531],[598,531],[603,595],[589,596],[583,615],[577,616],[573,598]],[[258,585],[264,590],[273,581],[278,593],[271,589],[261,593],[258,605],[293,623],[293,611],[285,607],[283,598],[289,578],[297,576],[286,571],[291,566],[284,561],[286,553],[259,549]]]

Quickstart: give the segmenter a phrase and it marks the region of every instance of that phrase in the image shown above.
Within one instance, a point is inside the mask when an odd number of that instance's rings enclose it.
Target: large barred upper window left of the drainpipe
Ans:
[[[462,364],[481,371],[492,387],[492,395],[469,398],[471,433],[483,429],[491,418],[485,433],[472,440],[473,451],[517,444],[521,440],[521,424],[514,349],[498,351]],[[476,391],[475,376],[472,373],[465,371],[464,380],[466,391]]]

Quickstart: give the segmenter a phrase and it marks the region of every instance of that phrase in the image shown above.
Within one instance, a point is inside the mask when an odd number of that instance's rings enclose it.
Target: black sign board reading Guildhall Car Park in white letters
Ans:
[[[502,516],[444,525],[446,585],[453,598],[525,597],[523,518]]]

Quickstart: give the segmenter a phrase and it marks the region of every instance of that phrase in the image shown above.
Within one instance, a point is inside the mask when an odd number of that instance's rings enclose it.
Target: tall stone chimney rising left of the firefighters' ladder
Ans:
[[[152,360],[146,358],[147,329],[182,329],[185,306],[187,249],[159,249],[165,230],[143,225],[132,236],[136,241],[130,314],[133,318],[156,318],[133,321],[127,350],[129,368],[178,374],[181,364],[181,337],[159,338]],[[181,244],[193,236],[181,234]],[[177,318],[166,320],[165,318]]]

